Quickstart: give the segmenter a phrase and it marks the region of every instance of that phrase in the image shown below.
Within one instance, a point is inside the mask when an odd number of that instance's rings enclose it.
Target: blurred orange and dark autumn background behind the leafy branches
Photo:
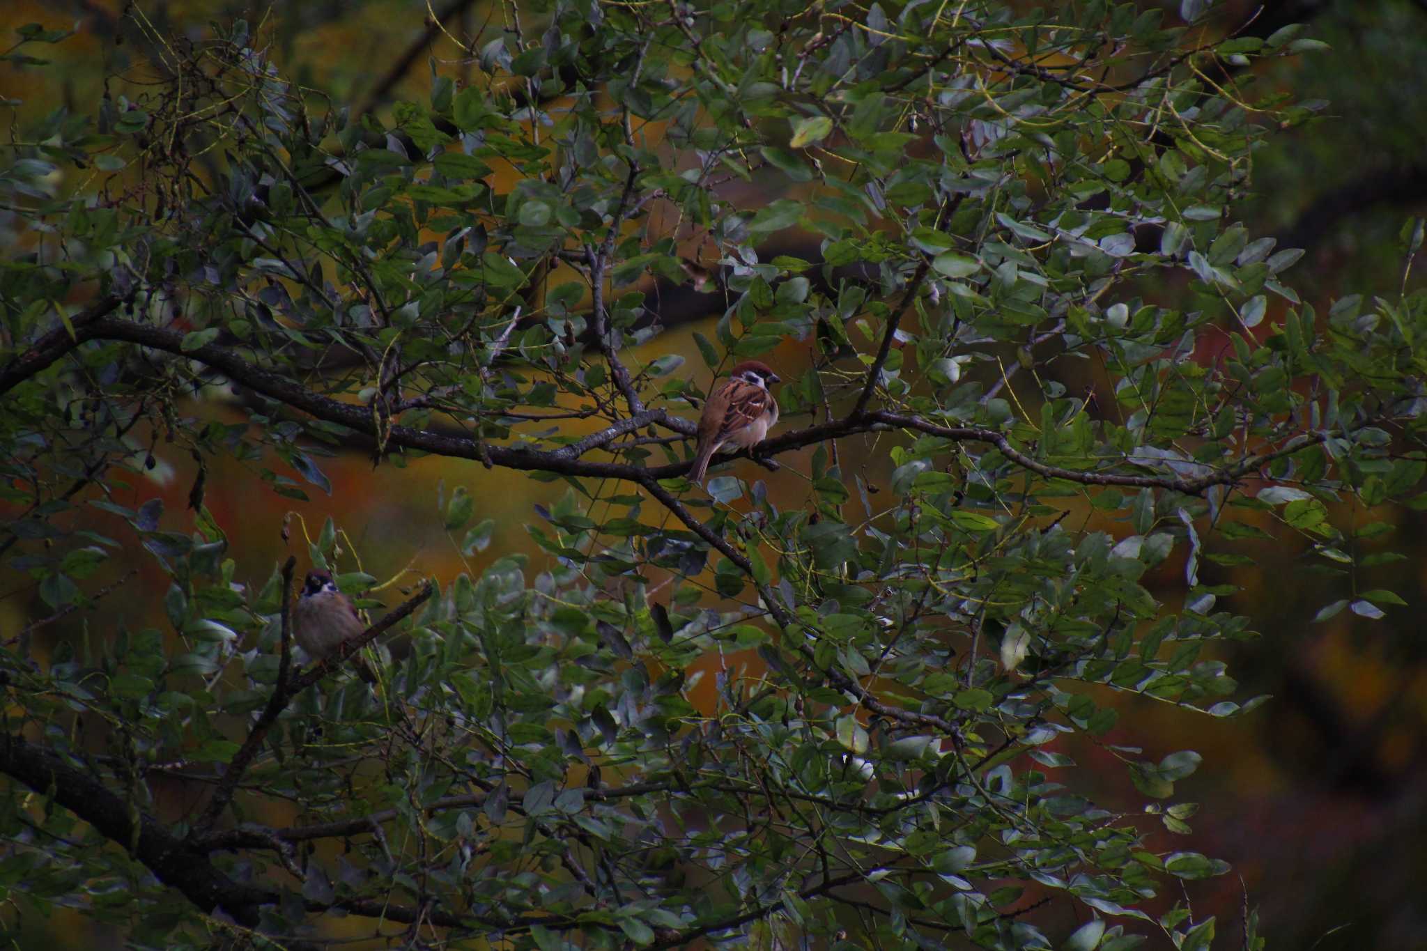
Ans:
[[[1030,4],[1025,4],[1030,6]],[[1166,23],[1179,16],[1163,6]],[[1330,51],[1293,61],[1256,64],[1232,78],[1253,81],[1256,91],[1280,90],[1290,98],[1320,103],[1319,118],[1270,137],[1257,153],[1251,194],[1239,204],[1239,218],[1253,237],[1276,235],[1279,247],[1307,251],[1291,284],[1319,312],[1344,295],[1393,295],[1403,281],[1398,232],[1413,214],[1427,212],[1427,0],[1290,0],[1214,4],[1210,33],[1269,36],[1286,23],[1303,23],[1309,36]],[[441,29],[428,13],[434,11]],[[106,90],[106,77],[143,83],[163,71],[163,44],[201,40],[210,23],[247,19],[254,34],[290,78],[327,90],[335,101],[360,103],[381,113],[400,98],[425,100],[432,70],[458,81],[471,76],[455,37],[475,36],[501,11],[488,0],[317,0],[271,6],[193,0],[137,4],[124,0],[4,0],[0,37],[13,37],[21,24],[74,27],[67,41],[44,47],[51,66],[0,63],[0,125],[14,118],[13,137],[26,124],[56,110],[91,114]],[[0,40],[0,48],[9,40]],[[726,197],[755,205],[776,183],[741,185]],[[10,230],[0,211],[0,242]],[[816,240],[778,251],[818,257]],[[1421,287],[1420,275],[1410,278]],[[669,332],[639,354],[682,354],[701,384],[706,371],[691,331],[711,325],[722,312],[719,294],[684,288],[649,288]],[[1149,299],[1184,301],[1187,279],[1162,279],[1139,289]],[[1270,314],[1270,317],[1273,317]],[[1267,324],[1267,322],[1266,322]],[[789,341],[769,362],[775,369],[801,369],[811,342]],[[791,376],[792,374],[783,374]],[[1093,385],[1093,379],[1067,385]],[[210,409],[204,409],[210,412]],[[692,415],[692,412],[691,412]],[[885,453],[879,458],[849,445],[843,469],[885,483]],[[860,453],[860,455],[859,455]],[[191,530],[186,500],[197,475],[187,455],[166,456],[147,480],[136,479],[131,498],[114,500],[137,508],[163,498],[163,528]],[[789,458],[806,471],[806,459]],[[287,553],[305,557],[303,532],[315,538],[327,516],[347,532],[351,563],[392,579],[410,572],[450,582],[479,569],[498,555],[521,550],[541,562],[522,525],[535,503],[564,495],[558,483],[517,479],[481,466],[422,461],[407,468],[372,469],[365,455],[323,462],[331,493],[307,486],[310,502],[281,498],[244,475],[240,463],[215,462],[207,476],[207,505],[228,532],[241,580],[261,586]],[[297,473],[293,473],[297,478]],[[749,473],[751,475],[751,473]],[[805,482],[796,473],[768,476],[772,496],[802,505]],[[478,500],[477,518],[495,519],[491,545],[477,557],[461,556],[461,539],[448,538],[431,503],[437,488],[445,498],[458,485]],[[484,510],[482,510],[484,509]],[[291,519],[291,536],[283,538]],[[1340,512],[1341,523],[1366,520],[1364,513]],[[1194,917],[1220,915],[1219,934],[1239,934],[1244,905],[1260,908],[1260,934],[1276,948],[1427,948],[1427,639],[1420,617],[1427,609],[1418,582],[1424,579],[1427,535],[1420,512],[1378,510],[1390,530],[1364,546],[1408,555],[1406,560],[1368,569],[1363,589],[1386,587],[1408,605],[1381,620],[1340,612],[1314,623],[1317,610],[1344,597],[1350,579],[1326,570],[1321,559],[1296,542],[1234,542],[1213,539],[1210,550],[1247,555],[1251,562],[1212,569],[1210,583],[1234,583],[1241,593],[1224,606],[1256,620],[1261,637],[1224,649],[1223,659],[1243,684],[1243,697],[1261,693],[1273,700],[1236,720],[1197,717],[1172,706],[1127,706],[1109,743],[1142,743],[1147,759],[1183,749],[1199,750],[1199,774],[1179,784],[1179,797],[1202,803],[1192,820],[1193,834],[1157,833],[1157,850],[1196,850],[1230,861],[1234,871],[1193,893]],[[106,530],[104,526],[96,526]],[[1114,525],[1103,525],[1116,530]],[[118,532],[116,532],[118,535]],[[44,643],[86,633],[103,636],[97,623],[117,620],[131,629],[164,627],[161,595],[167,580],[136,559],[138,573],[110,595],[103,619],[71,616],[44,632]],[[1182,570],[1170,563],[1156,576],[1159,596],[1177,603]],[[388,592],[388,602],[397,600]],[[43,616],[26,577],[0,575],[0,632]],[[44,644],[39,646],[40,649]],[[712,680],[712,679],[706,679]],[[1149,746],[1150,743],[1156,746]],[[1097,749],[1073,750],[1082,764],[1103,764],[1100,803],[1109,808],[1139,808],[1143,801],[1124,770]],[[1170,900],[1183,898],[1169,895]],[[90,947],[86,937],[60,935],[70,947]],[[1222,938],[1223,940],[1223,938]],[[53,947],[63,947],[53,945]]]

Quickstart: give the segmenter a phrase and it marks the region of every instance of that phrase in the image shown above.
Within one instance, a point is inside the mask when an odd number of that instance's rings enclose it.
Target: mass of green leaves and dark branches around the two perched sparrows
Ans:
[[[1299,252],[1232,221],[1264,128],[1304,113],[1202,67],[1307,48],[1293,30],[1017,10],[508,9],[472,44],[479,81],[438,74],[388,123],[324,110],[240,26],[93,123],[27,130],[0,170],[0,555],[44,624],[140,545],[171,633],[3,647],[6,887],[136,947],[314,913],[542,950],[758,928],[1209,947],[1213,918],[1146,910],[1224,871],[1160,847],[1193,806],[1102,808],[1056,741],[1173,798],[1199,756],[1110,743],[1116,696],[1254,703],[1206,652],[1250,620],[1200,569],[1266,525],[1346,576],[1326,612],[1396,599],[1359,592],[1376,529],[1336,503],[1418,492],[1427,301],[1320,322],[1283,282]],[[1146,278],[1187,279],[1194,309],[1142,299]],[[705,281],[709,371],[815,348],[759,448],[816,446],[798,506],[736,475],[691,486],[676,413],[702,391],[678,356],[631,364],[671,324],[655,287]],[[1097,394],[1063,382],[1077,365]],[[327,489],[318,459],[354,448],[569,483],[531,526],[545,563],[425,600],[375,693],[293,679],[291,566],[240,585],[201,480],[191,530],[108,498],[188,453],[303,499],[277,462]],[[440,508],[465,553],[488,546],[471,492]],[[337,542],[311,560],[345,566]],[[1177,612],[1144,583],[1172,560]],[[696,703],[685,672],[711,657]],[[173,808],[176,783],[207,804]]]

